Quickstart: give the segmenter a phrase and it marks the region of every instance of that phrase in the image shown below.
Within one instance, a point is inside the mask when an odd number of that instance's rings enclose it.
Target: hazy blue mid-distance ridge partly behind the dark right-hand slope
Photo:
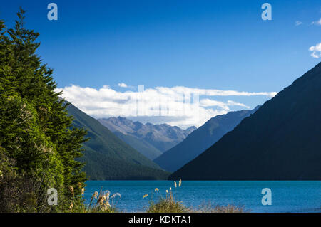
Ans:
[[[253,110],[240,110],[228,112],[225,115],[218,115],[193,131],[182,142],[157,157],[156,162],[160,167],[168,171],[176,171],[184,164],[195,159],[211,145],[218,141],[224,134],[233,130],[243,118],[253,114]]]

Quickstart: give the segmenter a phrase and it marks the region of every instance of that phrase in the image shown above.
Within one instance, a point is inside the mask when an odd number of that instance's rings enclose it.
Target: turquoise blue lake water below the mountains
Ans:
[[[321,181],[183,181],[175,189],[173,181],[87,181],[85,199],[89,203],[95,191],[120,193],[114,203],[120,211],[142,212],[158,188],[165,196],[166,189],[185,206],[197,207],[209,202],[217,205],[243,206],[250,212],[321,212]],[[272,205],[263,206],[262,189],[272,191]],[[142,199],[144,194],[148,197]]]

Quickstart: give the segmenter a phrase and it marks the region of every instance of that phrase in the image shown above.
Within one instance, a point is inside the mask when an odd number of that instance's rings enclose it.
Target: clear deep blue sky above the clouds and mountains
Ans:
[[[46,17],[50,2],[58,5],[58,21]],[[261,19],[264,2],[272,5],[272,21]],[[277,92],[321,59],[309,51],[321,42],[320,1],[13,0],[0,6],[7,26],[19,6],[28,11],[27,27],[41,34],[39,54],[54,68],[59,88]],[[252,108],[269,98],[236,95],[233,101]]]

